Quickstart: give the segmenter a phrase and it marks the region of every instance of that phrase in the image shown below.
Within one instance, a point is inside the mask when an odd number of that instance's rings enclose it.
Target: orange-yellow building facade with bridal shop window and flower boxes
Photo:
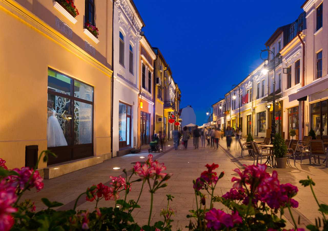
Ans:
[[[0,1],[10,31],[1,36],[0,104],[10,116],[0,122],[0,157],[9,168],[33,166],[45,149],[57,158],[38,168],[100,157],[79,162],[84,167],[111,156],[113,4],[88,9],[94,36],[86,31],[85,2],[74,1],[79,15],[72,17],[56,1]]]

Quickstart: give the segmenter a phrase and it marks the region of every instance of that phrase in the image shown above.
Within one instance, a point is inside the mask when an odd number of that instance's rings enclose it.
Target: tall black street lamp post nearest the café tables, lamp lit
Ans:
[[[273,144],[273,138],[276,135],[276,119],[275,119],[276,58],[280,56],[280,53],[278,52],[277,55],[275,56],[274,52],[272,52],[269,49],[265,49],[265,50],[261,50],[261,54],[264,51],[267,51],[268,54],[269,54],[267,59],[263,59],[262,56],[260,55],[261,59],[264,60],[264,66],[263,66],[262,73],[263,74],[268,73],[268,86],[269,86],[269,80],[270,80],[270,78],[269,78],[269,69],[271,69],[271,68],[270,67],[268,68],[267,66],[269,66],[270,54],[272,54],[274,56],[273,57],[273,84],[272,84],[272,87],[273,87],[273,93],[272,93],[272,121],[271,121],[271,134],[270,134],[270,138],[271,138],[270,139],[271,140],[270,144]],[[268,61],[268,65],[265,64],[265,61]],[[269,96],[269,88],[268,88],[268,96]]]

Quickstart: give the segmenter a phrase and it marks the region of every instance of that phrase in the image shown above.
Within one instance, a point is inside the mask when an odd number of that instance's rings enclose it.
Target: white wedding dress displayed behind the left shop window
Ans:
[[[48,147],[67,146],[67,142],[62,128],[59,125],[57,118],[55,117],[56,111],[51,108],[48,110],[47,120],[47,141]]]

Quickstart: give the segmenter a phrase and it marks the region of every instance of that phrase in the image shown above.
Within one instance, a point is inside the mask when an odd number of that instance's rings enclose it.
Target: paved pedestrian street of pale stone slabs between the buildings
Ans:
[[[231,178],[235,173],[233,169],[242,168],[242,164],[253,164],[253,159],[250,157],[240,158],[240,147],[236,142],[232,143],[231,149],[227,150],[225,140],[220,140],[220,148],[213,150],[210,147],[199,147],[194,149],[192,140],[189,141],[187,150],[180,145],[178,150],[172,148],[172,142],[166,144],[166,151],[162,153],[153,153],[154,159],[158,159],[160,163],[165,163],[167,167],[166,172],[173,173],[173,177],[168,181],[168,186],[159,189],[154,195],[154,206],[152,223],[162,220],[160,217],[160,209],[166,208],[167,200],[166,194],[174,196],[173,202],[170,202],[170,207],[176,210],[173,217],[174,230],[180,228],[186,230],[184,227],[189,224],[186,215],[189,214],[190,209],[194,209],[195,194],[192,181],[200,176],[200,173],[205,170],[205,164],[216,163],[219,164],[217,172],[224,171],[225,175],[219,180],[216,186],[216,195],[222,195],[230,190],[232,187]],[[45,208],[41,202],[41,198],[47,197],[51,201],[58,201],[64,205],[58,209],[73,208],[76,197],[87,187],[92,184],[108,183],[109,176],[119,176],[122,174],[121,170],[130,169],[133,162],[146,160],[148,151],[144,150],[137,154],[129,154],[122,157],[116,157],[107,160],[102,164],[97,164],[92,167],[84,168],[54,179],[44,180],[44,189],[40,192],[31,191],[24,197],[36,202],[37,210]],[[246,154],[247,155],[247,154]],[[140,157],[145,157],[141,159]],[[292,163],[293,161],[291,161]],[[311,194],[310,188],[304,188],[298,181],[305,179],[309,175],[317,183],[315,186],[315,193],[320,203],[328,203],[327,191],[327,174],[328,169],[323,165],[314,164],[309,165],[309,160],[303,160],[303,164],[299,164],[297,160],[296,166],[287,166],[285,169],[275,169],[278,172],[281,183],[292,183],[299,189],[296,200],[299,202],[299,207],[293,209],[293,214],[296,219],[300,217],[301,226],[309,223],[314,223],[316,217],[320,217],[318,207]],[[113,170],[113,167],[121,167],[119,170]],[[269,168],[268,172],[273,169]],[[132,191],[128,195],[128,199],[137,199],[141,190],[141,183],[134,183]],[[122,196],[122,195],[121,195]],[[209,195],[206,195],[209,199]],[[209,201],[209,200],[207,200]],[[143,193],[138,202],[140,209],[133,211],[133,217],[139,225],[144,225],[148,221],[150,211],[150,193],[148,188],[144,186]],[[78,202],[78,209],[92,210],[95,202],[86,202],[85,197]],[[113,201],[100,201],[99,207],[114,206]],[[222,204],[216,203],[215,208],[225,209]],[[227,211],[226,211],[227,212]],[[292,228],[291,218],[287,211],[285,213],[285,220],[287,220],[287,227]]]

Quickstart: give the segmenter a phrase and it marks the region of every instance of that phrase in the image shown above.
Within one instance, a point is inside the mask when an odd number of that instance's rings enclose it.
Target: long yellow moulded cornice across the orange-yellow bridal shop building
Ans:
[[[0,0],[0,8],[4,11],[7,11],[12,16],[16,17],[21,22],[27,24],[29,27],[32,27],[33,29],[37,30],[42,35],[57,43],[61,47],[67,49],[79,58],[85,60],[90,65],[97,68],[99,71],[110,77],[113,76],[113,71],[109,67],[106,67],[103,63],[92,57],[85,50],[77,46],[75,43],[66,38],[60,32],[53,29],[47,23],[42,21],[35,14],[22,7],[19,3],[13,0]]]

